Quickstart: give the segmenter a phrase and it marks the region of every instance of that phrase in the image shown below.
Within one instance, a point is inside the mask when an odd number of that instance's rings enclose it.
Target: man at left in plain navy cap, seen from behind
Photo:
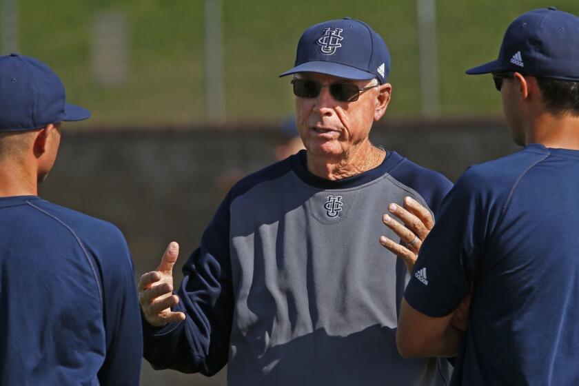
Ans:
[[[0,57],[0,384],[138,385],[141,323],[114,225],[41,199],[65,103],[44,63]]]

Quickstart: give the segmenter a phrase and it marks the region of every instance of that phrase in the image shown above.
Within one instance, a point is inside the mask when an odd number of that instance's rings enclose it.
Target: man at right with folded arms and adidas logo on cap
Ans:
[[[532,10],[467,71],[492,74],[525,148],[460,177],[404,295],[400,353],[460,352],[453,385],[579,384],[578,41],[578,17]],[[463,336],[449,320],[471,287]]]

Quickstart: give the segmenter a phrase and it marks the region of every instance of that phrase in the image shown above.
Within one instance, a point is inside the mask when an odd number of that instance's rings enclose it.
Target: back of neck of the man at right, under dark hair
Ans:
[[[539,114],[527,133],[526,142],[540,143],[547,148],[579,150],[579,116]]]

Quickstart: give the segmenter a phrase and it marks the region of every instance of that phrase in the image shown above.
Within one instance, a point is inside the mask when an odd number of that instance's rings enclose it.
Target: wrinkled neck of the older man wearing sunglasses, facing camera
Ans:
[[[315,156],[307,152],[307,170],[330,181],[356,176],[374,169],[384,161],[386,152],[367,143],[339,158]]]

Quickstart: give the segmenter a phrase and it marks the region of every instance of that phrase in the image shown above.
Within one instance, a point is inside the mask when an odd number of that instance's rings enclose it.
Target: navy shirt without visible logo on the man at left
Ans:
[[[114,225],[0,198],[0,385],[138,385],[132,261]]]

